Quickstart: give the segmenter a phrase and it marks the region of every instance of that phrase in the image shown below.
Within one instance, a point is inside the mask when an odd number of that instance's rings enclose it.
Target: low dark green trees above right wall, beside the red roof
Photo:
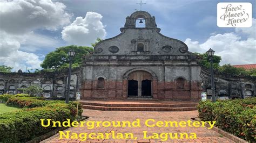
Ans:
[[[249,71],[246,71],[244,68],[236,68],[230,64],[225,64],[218,68],[219,71],[234,75],[250,75]]]

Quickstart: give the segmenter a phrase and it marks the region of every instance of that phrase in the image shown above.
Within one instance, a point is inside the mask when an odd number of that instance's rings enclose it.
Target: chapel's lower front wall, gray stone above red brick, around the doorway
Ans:
[[[174,56],[163,56],[166,59],[150,55],[140,55],[141,60],[127,60],[111,56],[89,55],[85,58],[83,67],[83,98],[127,98],[127,79],[132,71],[147,71],[152,75],[152,98],[197,101],[200,98],[200,67],[197,59],[176,59]],[[98,78],[104,78],[105,87],[97,88]],[[177,79],[184,79],[184,88],[177,88]]]

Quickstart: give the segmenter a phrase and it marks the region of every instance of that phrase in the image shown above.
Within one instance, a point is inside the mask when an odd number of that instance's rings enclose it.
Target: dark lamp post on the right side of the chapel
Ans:
[[[211,63],[212,102],[216,102],[215,88],[214,88],[214,77],[213,77],[213,67],[212,67],[214,52],[215,51],[213,51],[213,49],[211,49],[211,48],[206,52],[208,57],[209,57],[210,63]]]

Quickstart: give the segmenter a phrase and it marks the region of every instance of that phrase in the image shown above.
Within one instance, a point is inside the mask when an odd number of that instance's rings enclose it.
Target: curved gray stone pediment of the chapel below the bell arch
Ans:
[[[140,45],[142,45],[142,51],[138,49]],[[93,54],[191,55],[183,41],[166,37],[156,28],[127,28],[116,37],[99,42]]]

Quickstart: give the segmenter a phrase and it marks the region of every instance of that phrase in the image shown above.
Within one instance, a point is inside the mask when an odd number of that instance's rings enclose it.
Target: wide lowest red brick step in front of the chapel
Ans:
[[[182,108],[161,108],[161,107],[131,107],[131,106],[93,106],[83,105],[84,109],[104,111],[192,111],[197,110],[196,106]]]

